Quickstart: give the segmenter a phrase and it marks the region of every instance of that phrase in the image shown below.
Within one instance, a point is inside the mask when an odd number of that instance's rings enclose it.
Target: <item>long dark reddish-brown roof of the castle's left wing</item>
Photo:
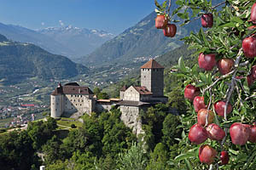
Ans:
[[[60,88],[55,88],[55,91],[51,95],[58,94],[93,94],[93,92],[88,87],[80,86],[64,86]]]

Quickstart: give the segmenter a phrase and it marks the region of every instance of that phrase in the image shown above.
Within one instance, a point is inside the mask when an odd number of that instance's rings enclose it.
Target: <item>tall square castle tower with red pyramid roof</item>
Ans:
[[[148,88],[154,97],[164,95],[164,70],[154,59],[141,67],[141,86]]]

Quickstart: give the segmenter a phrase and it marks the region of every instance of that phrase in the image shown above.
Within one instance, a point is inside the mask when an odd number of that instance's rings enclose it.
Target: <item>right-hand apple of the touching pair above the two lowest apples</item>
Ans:
[[[220,141],[224,139],[224,136],[225,136],[224,130],[214,123],[209,124],[207,126],[207,132],[208,132],[209,139],[212,139],[212,140]]]

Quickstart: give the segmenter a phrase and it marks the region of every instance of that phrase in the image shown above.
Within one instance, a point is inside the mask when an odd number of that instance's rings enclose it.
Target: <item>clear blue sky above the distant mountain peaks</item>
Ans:
[[[119,34],[154,10],[154,0],[0,0],[0,22],[42,29],[77,26]]]

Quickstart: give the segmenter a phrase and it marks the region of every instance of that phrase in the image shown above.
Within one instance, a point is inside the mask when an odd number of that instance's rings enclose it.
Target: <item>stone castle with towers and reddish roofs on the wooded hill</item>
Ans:
[[[122,112],[121,120],[133,133],[143,133],[139,111],[148,107],[166,103],[164,96],[164,67],[154,59],[141,66],[141,86],[120,89],[119,99],[96,99],[88,87],[80,87],[77,82],[70,82],[55,88],[50,95],[50,115],[52,117],[79,117],[84,113],[110,110],[115,106]]]

